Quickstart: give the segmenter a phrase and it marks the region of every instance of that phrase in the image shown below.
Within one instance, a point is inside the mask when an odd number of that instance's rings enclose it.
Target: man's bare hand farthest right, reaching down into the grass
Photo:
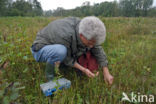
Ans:
[[[103,67],[103,75],[104,75],[105,82],[108,83],[109,85],[112,85],[114,77],[109,73],[107,67]]]

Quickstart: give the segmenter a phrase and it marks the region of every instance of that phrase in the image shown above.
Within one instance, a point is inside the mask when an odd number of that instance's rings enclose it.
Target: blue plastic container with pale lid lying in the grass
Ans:
[[[65,78],[60,78],[55,81],[49,81],[47,83],[43,83],[40,85],[45,96],[50,96],[53,94],[53,92],[57,90],[62,90],[63,88],[64,89],[70,88],[70,86],[71,86],[71,81]]]

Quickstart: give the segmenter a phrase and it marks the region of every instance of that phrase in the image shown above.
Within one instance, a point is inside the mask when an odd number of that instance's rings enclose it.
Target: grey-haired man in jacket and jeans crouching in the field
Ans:
[[[45,74],[48,80],[54,77],[55,63],[79,69],[88,77],[96,77],[90,69],[78,63],[78,58],[90,52],[102,67],[104,80],[110,85],[113,76],[108,70],[108,61],[103,48],[100,46],[105,40],[106,29],[103,22],[94,16],[82,20],[67,17],[52,21],[37,33],[31,47],[31,52],[37,62],[46,62]]]

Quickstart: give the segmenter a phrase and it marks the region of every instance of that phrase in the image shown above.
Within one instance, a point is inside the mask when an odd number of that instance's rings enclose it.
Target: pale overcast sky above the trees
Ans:
[[[100,3],[103,1],[114,1],[114,0],[38,0],[43,10],[53,10],[57,7],[63,7],[64,9],[73,9],[77,6],[81,6],[83,2],[89,1],[91,5],[94,3]],[[119,1],[119,0],[117,0]],[[154,0],[154,5],[156,6],[156,0]]]

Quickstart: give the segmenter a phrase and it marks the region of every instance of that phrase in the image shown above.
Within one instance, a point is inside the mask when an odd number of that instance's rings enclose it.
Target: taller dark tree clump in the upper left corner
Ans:
[[[0,16],[42,16],[37,0],[0,0]]]

